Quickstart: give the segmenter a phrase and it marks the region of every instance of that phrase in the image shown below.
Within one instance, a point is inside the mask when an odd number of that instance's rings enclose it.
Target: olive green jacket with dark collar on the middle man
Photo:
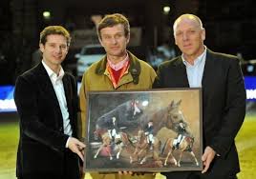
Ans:
[[[80,136],[85,138],[85,123],[86,123],[86,93],[90,90],[127,90],[127,89],[152,89],[152,84],[157,76],[155,70],[146,62],[139,60],[135,55],[128,51],[130,58],[130,66],[120,78],[117,88],[115,89],[110,79],[110,73],[106,70],[107,59],[103,57],[98,62],[94,63],[88,70],[85,71],[82,78],[81,88],[79,90],[79,105],[81,110]],[[98,174],[91,173],[93,178],[143,178],[152,179],[155,176],[145,174],[139,176],[118,174]]]

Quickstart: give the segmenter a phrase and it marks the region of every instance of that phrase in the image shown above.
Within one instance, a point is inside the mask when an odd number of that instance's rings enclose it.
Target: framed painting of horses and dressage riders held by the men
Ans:
[[[202,89],[87,93],[85,171],[202,170]]]

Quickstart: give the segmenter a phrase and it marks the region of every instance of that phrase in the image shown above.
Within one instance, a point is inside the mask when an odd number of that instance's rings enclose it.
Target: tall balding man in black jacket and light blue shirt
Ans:
[[[240,171],[234,138],[245,118],[245,85],[237,57],[208,50],[199,17],[183,14],[173,26],[182,55],[160,65],[154,88],[203,89],[203,171],[167,178],[235,179]]]

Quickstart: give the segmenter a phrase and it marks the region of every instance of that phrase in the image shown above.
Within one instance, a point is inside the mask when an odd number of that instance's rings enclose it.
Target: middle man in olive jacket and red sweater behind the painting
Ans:
[[[83,74],[79,91],[83,138],[85,137],[87,91],[151,89],[156,77],[156,72],[151,66],[126,50],[130,40],[130,25],[126,17],[118,13],[106,15],[97,26],[97,34],[106,55]],[[119,174],[121,174],[120,171]],[[105,179],[151,179],[155,177],[153,174],[131,176],[117,173],[106,175],[91,173],[91,175],[93,178]]]

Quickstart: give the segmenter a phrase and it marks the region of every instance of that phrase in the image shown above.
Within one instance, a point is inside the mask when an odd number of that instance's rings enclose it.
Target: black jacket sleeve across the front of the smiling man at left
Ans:
[[[21,133],[54,150],[64,150],[69,136],[58,130],[50,129],[41,122],[37,95],[32,81],[22,76],[18,77],[14,100],[20,116]]]

